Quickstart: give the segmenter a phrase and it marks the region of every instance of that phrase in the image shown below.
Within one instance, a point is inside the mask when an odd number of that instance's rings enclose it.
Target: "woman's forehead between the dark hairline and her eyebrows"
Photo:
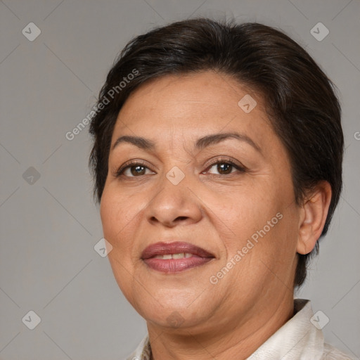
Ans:
[[[244,101],[253,107],[248,113]],[[198,135],[245,131],[261,141],[269,136],[271,124],[262,97],[229,75],[211,71],[167,75],[146,82],[129,96],[117,117],[112,144],[122,134],[195,139],[194,131]]]

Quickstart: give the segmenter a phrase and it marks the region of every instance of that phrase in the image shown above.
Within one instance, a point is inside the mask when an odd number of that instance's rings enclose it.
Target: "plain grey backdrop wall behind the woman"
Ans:
[[[340,90],[345,187],[297,297],[328,316],[328,342],[360,356],[359,0],[4,0],[0,12],[1,360],[123,359],[146,334],[94,250],[103,233],[88,127],[72,141],[65,134],[129,39],[195,15],[281,27]],[[34,41],[22,33],[30,22],[41,30]],[[319,22],[330,31],[322,41],[310,32]],[[34,330],[22,321],[30,310],[41,318]]]

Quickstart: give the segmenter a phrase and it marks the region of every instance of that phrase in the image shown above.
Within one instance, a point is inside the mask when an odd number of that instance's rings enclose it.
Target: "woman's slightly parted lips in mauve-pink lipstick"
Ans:
[[[143,262],[155,271],[178,273],[196,266],[202,266],[214,259],[214,255],[191,243],[155,243],[141,254]]]

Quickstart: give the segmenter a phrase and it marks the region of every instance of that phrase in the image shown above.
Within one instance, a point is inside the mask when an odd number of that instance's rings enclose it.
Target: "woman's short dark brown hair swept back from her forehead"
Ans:
[[[108,73],[89,129],[94,138],[89,167],[97,202],[108,174],[117,115],[129,94],[150,79],[205,70],[231,75],[261,94],[274,131],[288,152],[298,205],[319,181],[330,183],[324,236],[342,189],[344,138],[335,85],[302,46],[281,30],[259,23],[195,18],[129,41]],[[304,282],[314,253],[319,253],[318,241],[309,254],[297,254],[295,287]]]

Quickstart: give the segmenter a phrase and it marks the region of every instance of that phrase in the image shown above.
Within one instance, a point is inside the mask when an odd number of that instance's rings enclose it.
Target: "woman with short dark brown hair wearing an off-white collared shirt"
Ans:
[[[128,359],[350,359],[293,295],[343,153],[333,84],[295,41],[206,18],[136,37],[90,131],[110,264],[148,326]]]

